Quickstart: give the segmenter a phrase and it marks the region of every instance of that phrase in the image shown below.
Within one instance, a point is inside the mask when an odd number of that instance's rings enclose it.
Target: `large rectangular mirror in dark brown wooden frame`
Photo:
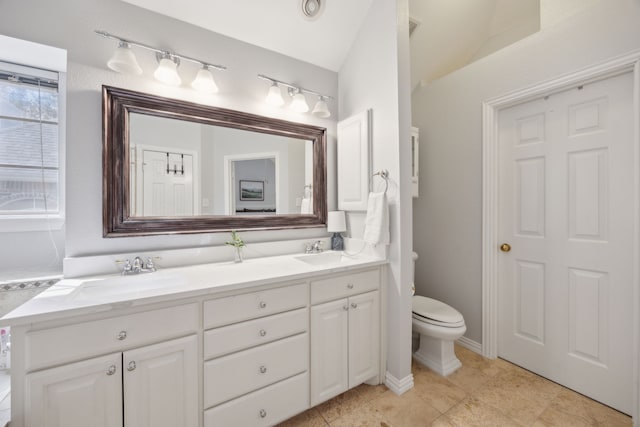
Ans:
[[[325,128],[110,86],[102,98],[104,237],[326,223]]]

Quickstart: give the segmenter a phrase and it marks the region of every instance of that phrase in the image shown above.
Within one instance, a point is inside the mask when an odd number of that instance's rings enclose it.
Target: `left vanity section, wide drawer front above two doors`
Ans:
[[[197,426],[197,328],[188,304],[28,332],[24,425]]]

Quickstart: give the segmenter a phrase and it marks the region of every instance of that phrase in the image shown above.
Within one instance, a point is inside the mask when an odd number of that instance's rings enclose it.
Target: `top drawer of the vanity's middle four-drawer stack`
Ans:
[[[204,303],[204,327],[215,328],[306,307],[308,301],[309,288],[304,283],[209,300]]]

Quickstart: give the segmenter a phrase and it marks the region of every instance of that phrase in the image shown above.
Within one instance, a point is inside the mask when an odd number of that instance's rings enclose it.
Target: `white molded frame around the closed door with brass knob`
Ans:
[[[502,109],[578,84],[633,73],[633,424],[640,427],[640,51],[545,80],[482,103],[482,355],[498,357],[498,118]]]

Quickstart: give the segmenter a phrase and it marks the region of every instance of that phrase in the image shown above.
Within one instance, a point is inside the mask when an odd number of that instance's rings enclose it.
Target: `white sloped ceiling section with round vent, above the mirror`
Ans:
[[[310,20],[302,0],[124,0],[181,21],[338,71],[372,0],[321,0]]]

